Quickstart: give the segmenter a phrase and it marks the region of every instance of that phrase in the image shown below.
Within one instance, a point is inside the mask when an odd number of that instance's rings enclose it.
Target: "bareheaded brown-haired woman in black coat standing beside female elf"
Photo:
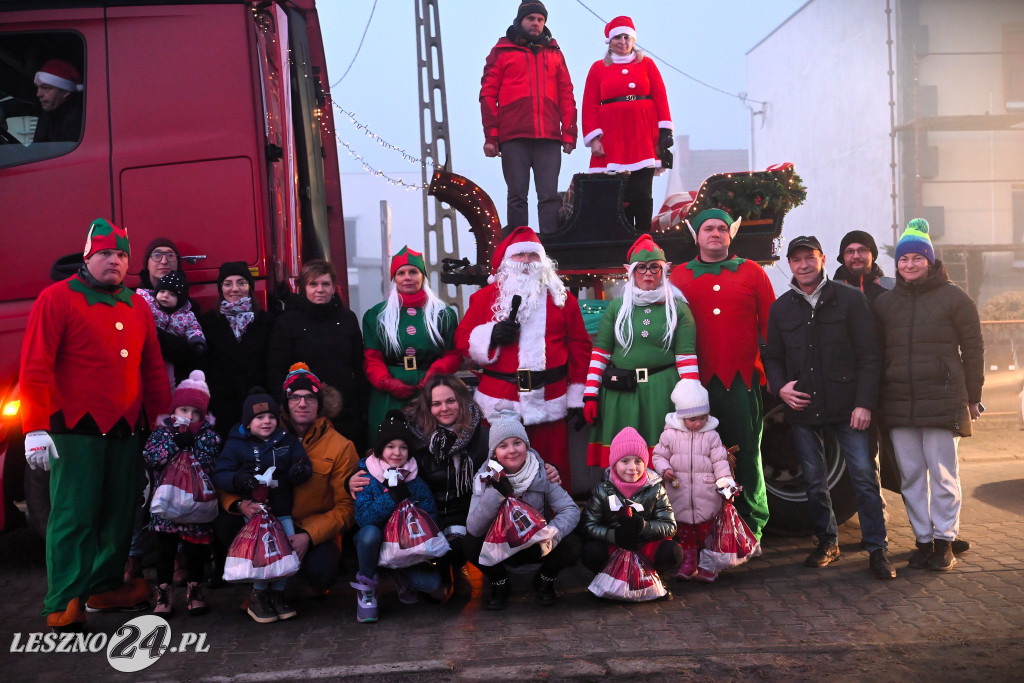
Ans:
[[[288,297],[267,351],[267,386],[282,386],[288,369],[304,362],[341,393],[335,429],[362,453],[367,446],[370,385],[362,371],[359,321],[335,290],[337,276],[327,261],[308,261],[299,274],[298,294]]]

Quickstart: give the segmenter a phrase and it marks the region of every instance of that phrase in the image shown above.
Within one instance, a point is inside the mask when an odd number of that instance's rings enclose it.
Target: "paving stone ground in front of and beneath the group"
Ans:
[[[0,679],[1020,680],[1024,454],[1007,450],[1020,435],[1016,425],[1006,429],[1005,438],[988,434],[962,452],[962,536],[974,548],[950,572],[904,568],[913,539],[902,502],[887,493],[895,581],[868,573],[854,518],[841,528],[842,556],[831,566],[803,566],[811,539],[766,538],[763,557],[713,585],[670,582],[675,599],[656,603],[598,601],[577,568],[559,580],[556,607],[538,605],[521,574],[508,609],[488,612],[473,572],[468,602],[409,607],[385,589],[381,621],[360,625],[347,580],[319,599],[293,582],[299,617],[260,626],[239,608],[246,590],[232,586],[209,592],[211,613],[170,620],[172,643],[205,633],[208,652],[168,652],[136,674],[115,672],[103,652],[9,651],[14,634],[24,642],[44,630],[42,544],[16,531],[0,537]],[[132,616],[90,615],[89,629],[113,635]]]

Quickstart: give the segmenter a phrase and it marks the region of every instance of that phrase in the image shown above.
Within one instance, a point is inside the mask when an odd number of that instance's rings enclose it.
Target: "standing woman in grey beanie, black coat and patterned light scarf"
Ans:
[[[203,359],[210,386],[210,413],[215,429],[227,437],[242,420],[249,390],[266,384],[266,352],[273,319],[256,304],[256,283],[245,261],[228,261],[217,273],[220,303],[199,317],[206,336]]]

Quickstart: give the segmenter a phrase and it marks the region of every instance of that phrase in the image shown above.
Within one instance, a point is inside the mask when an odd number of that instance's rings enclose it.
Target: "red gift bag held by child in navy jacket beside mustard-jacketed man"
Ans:
[[[227,549],[224,581],[272,581],[299,570],[299,556],[278,518],[261,510]]]

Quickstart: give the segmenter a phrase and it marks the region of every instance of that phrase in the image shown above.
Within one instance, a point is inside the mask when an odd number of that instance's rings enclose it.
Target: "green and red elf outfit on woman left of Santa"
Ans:
[[[400,296],[400,295],[399,295]],[[455,349],[455,329],[459,323],[459,314],[455,308],[446,306],[438,314],[437,331],[441,335],[441,344],[435,344],[430,338],[424,318],[426,292],[421,290],[412,296],[401,298],[401,309],[398,314],[398,345],[400,353],[388,348],[380,330],[377,318],[387,305],[382,301],[362,316],[364,365],[367,378],[370,380],[370,420],[371,442],[377,437],[377,428],[388,411],[401,410],[409,404],[415,391],[409,392],[404,398],[395,396],[388,385],[397,380],[415,390],[423,386],[427,377],[436,374],[451,375],[459,370],[462,357]],[[399,392],[403,392],[399,388]]]

